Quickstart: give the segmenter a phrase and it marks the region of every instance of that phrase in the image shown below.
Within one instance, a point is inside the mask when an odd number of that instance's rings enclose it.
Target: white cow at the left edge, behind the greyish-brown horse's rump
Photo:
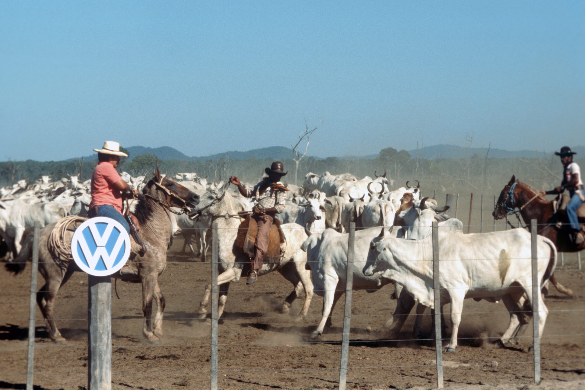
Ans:
[[[26,231],[39,223],[40,227],[57,222],[67,215],[67,210],[59,203],[29,204],[19,199],[0,202],[0,233],[10,246],[13,245],[15,255],[22,249],[22,237]]]

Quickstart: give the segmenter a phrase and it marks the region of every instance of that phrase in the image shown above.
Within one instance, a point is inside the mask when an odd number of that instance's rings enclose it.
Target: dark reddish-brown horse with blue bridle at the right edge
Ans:
[[[518,216],[518,214],[522,216],[528,231],[531,229],[531,220],[536,219],[538,234],[555,243],[559,252],[578,252],[585,249],[585,243],[581,243],[579,246],[572,243],[565,225],[557,226],[557,222],[566,224],[566,216],[563,219],[555,215],[552,201],[548,201],[531,185],[516,180],[515,175],[513,175],[510,182],[502,189],[492,215],[495,219],[508,219],[508,216]],[[573,296],[573,292],[563,287],[556,280],[555,275],[550,277],[550,281],[562,294]]]

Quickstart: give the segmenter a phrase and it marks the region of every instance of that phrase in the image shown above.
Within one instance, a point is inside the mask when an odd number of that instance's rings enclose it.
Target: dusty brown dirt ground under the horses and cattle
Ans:
[[[171,248],[161,288],[166,296],[164,338],[159,345],[142,338],[142,298],[138,284],[118,282],[121,299],[112,298],[113,389],[209,388],[210,326],[195,319],[211,267],[178,254],[182,240]],[[538,388],[584,388],[585,281],[573,257],[557,277],[580,297],[560,296],[552,290],[550,310],[542,340],[542,378]],[[30,265],[17,277],[0,270],[0,388],[24,388],[26,337],[29,310]],[[39,286],[42,285],[39,275]],[[247,287],[232,284],[226,313],[219,326],[219,387],[222,389],[332,389],[339,378],[343,299],[333,312],[333,327],[318,343],[306,342],[321,312],[322,299],[315,296],[309,317],[294,321],[302,305],[297,298],[290,314],[278,312],[292,290],[280,274],[261,277]],[[414,317],[409,317],[400,341],[387,340],[378,332],[395,307],[387,286],[374,294],[355,291],[349,389],[418,388],[436,386],[433,343],[411,339]],[[446,306],[449,310],[449,306]],[[456,353],[443,354],[445,386],[453,389],[534,389],[530,339],[519,348],[499,349],[489,340],[508,324],[499,303],[467,300]],[[85,389],[87,385],[87,276],[75,274],[61,289],[56,308],[57,326],[67,343],[47,338],[37,309],[35,384],[39,389]],[[427,312],[428,313],[428,312]],[[428,329],[430,318],[425,319]],[[368,332],[367,327],[372,331]],[[449,329],[450,330],[450,329]],[[528,332],[531,336],[531,332]],[[483,345],[482,345],[483,344]]]

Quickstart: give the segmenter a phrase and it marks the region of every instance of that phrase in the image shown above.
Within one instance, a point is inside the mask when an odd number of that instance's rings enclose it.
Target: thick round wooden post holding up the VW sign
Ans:
[[[88,390],[112,388],[112,282],[109,276],[87,275]]]

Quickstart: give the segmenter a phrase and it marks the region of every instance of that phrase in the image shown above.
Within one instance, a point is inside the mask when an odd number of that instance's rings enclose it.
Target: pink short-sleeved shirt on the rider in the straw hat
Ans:
[[[102,161],[95,167],[91,177],[91,203],[94,206],[111,205],[122,213],[122,194],[113,187],[116,181],[122,180],[112,164]]]

